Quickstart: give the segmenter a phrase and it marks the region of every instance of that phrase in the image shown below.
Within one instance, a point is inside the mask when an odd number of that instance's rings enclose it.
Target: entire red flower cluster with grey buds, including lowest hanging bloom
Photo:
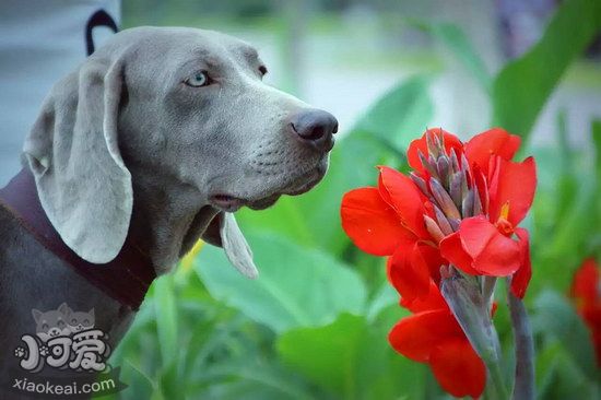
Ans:
[[[467,143],[429,129],[409,146],[409,176],[379,167],[377,187],[342,200],[344,231],[362,250],[389,256],[389,281],[413,313],[390,332],[392,346],[428,363],[453,396],[479,397],[486,377],[440,295],[441,267],[466,277],[509,277],[519,298],[530,281],[528,232],[518,224],[532,204],[537,175],[532,157],[511,161],[519,145],[519,137],[503,129]],[[458,372],[470,378],[457,379]]]

